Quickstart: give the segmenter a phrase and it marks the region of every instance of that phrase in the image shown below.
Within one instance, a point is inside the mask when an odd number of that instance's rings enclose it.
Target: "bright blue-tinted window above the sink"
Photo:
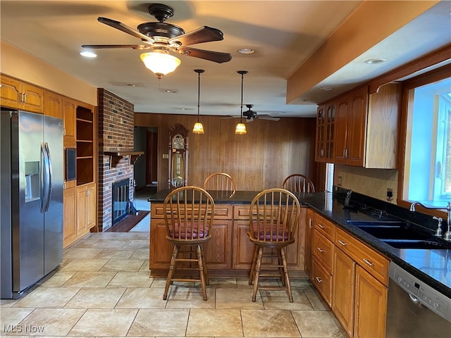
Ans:
[[[407,82],[403,199],[443,206],[451,198],[451,77]],[[421,79],[420,79],[421,80]]]

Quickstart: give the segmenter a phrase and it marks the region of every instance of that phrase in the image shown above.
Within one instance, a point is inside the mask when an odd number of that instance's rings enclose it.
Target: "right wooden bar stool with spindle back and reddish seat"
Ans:
[[[254,284],[252,301],[256,301],[257,289],[285,289],[290,303],[293,302],[285,248],[295,243],[300,213],[296,196],[285,189],[266,189],[252,200],[247,232],[254,244],[249,273],[249,285]],[[283,287],[260,287],[260,277],[278,277]]]

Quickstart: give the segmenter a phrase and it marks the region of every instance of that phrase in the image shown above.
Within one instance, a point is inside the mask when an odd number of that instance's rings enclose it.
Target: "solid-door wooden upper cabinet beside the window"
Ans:
[[[396,168],[400,98],[400,84],[386,84],[376,94],[363,86],[335,99],[334,163]]]

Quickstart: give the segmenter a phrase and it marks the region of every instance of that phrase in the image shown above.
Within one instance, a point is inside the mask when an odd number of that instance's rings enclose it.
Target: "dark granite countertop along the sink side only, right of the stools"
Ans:
[[[302,204],[307,204],[316,212],[333,221],[342,229],[350,232],[373,247],[383,255],[387,256],[401,268],[419,278],[439,292],[451,296],[451,249],[396,249],[376,237],[371,236],[364,230],[347,223],[348,220],[374,220],[374,217],[344,208],[340,199],[332,193],[298,194]],[[395,216],[395,215],[393,215]],[[390,215],[384,215],[390,218]],[[393,219],[395,219],[393,217]]]

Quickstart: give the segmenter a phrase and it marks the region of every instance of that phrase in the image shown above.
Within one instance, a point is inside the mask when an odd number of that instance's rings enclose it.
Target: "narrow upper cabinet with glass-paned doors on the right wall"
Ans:
[[[321,104],[316,115],[315,161],[333,162],[335,101]]]

